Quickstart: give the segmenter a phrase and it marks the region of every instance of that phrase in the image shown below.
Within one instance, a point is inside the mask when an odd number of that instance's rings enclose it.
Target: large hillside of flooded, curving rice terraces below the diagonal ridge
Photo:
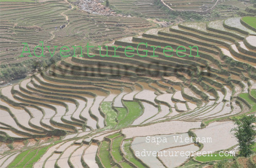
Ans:
[[[70,22],[90,20],[86,14],[78,18],[69,12]],[[174,164],[174,158],[137,153],[187,148],[214,153],[236,145],[230,133],[233,123],[227,120],[256,110],[256,48],[255,41],[248,40],[256,32],[240,19],[182,23],[155,34],[116,40],[113,45],[123,48],[109,47],[108,53],[120,57],[100,57],[96,49],[95,57],[69,57],[19,84],[1,88],[1,140],[60,138],[23,151],[7,150],[0,155],[0,166],[176,167],[189,158],[179,156]],[[99,25],[102,22],[108,20]],[[64,30],[73,29],[71,25]],[[155,51],[159,57],[142,58],[131,51],[134,56],[126,57],[125,47],[137,51],[139,43],[161,46]],[[185,46],[180,53],[187,56],[165,57],[167,45],[174,52],[177,46]],[[189,45],[198,46],[200,57],[188,57]],[[152,47],[143,45],[138,52],[145,49],[153,54]],[[197,50],[191,53],[196,55]],[[212,137],[214,144],[202,142],[200,147],[174,139],[189,138],[191,133]],[[166,137],[168,143],[147,143],[147,136]]]

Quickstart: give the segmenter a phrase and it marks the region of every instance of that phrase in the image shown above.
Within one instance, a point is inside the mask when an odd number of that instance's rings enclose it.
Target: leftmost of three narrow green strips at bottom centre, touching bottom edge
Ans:
[[[101,163],[105,167],[112,167],[110,162],[111,156],[110,156],[109,150],[110,150],[110,143],[108,141],[103,141],[99,148],[99,158],[101,160]]]

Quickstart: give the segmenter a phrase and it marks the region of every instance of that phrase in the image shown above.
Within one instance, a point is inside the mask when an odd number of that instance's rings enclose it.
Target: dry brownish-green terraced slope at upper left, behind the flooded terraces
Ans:
[[[42,60],[46,60],[46,64],[52,62],[53,58],[49,58],[50,53],[46,47],[44,47],[44,55],[47,58],[37,58],[34,55],[34,52],[37,55],[41,54],[41,49],[33,50],[36,46],[42,45],[40,42],[44,42],[44,46],[66,45],[71,48],[86,46],[89,42],[91,45],[101,45],[156,27],[142,17],[126,17],[123,20],[122,17],[117,16],[88,14],[81,12],[68,1],[61,0],[11,1],[11,3],[1,1],[0,5],[0,68],[3,72],[1,81],[18,78],[18,74],[25,78],[27,73],[36,70],[37,64]],[[60,29],[61,25],[65,25],[65,28]],[[28,51],[27,46],[22,43],[28,44],[32,57],[29,57],[29,53],[22,54],[23,49]],[[60,47],[56,49],[57,57],[59,51]],[[23,71],[18,71],[16,67],[23,68]]]

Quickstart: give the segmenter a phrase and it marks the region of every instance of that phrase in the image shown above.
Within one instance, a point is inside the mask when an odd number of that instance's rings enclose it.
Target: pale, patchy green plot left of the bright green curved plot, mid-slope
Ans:
[[[116,111],[112,109],[112,102],[103,102],[101,104],[101,109],[106,116],[107,127],[113,128],[117,124],[115,121],[117,114]]]

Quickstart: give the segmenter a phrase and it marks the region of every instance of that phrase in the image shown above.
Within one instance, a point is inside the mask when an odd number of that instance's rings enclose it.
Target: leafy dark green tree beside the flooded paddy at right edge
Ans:
[[[234,132],[234,136],[240,145],[241,156],[248,157],[253,153],[252,144],[256,135],[255,125],[253,123],[255,122],[256,117],[253,115],[235,119],[236,127],[231,129],[231,131]]]

